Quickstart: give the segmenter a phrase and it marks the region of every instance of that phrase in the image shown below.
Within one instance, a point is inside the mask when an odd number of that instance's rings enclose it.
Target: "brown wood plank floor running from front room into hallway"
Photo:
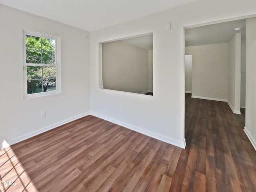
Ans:
[[[256,191],[244,113],[191,94],[185,106],[186,149],[86,116],[0,150],[0,191]]]

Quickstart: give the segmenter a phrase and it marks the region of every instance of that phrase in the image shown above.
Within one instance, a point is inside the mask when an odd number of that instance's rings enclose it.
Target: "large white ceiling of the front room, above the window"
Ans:
[[[196,0],[0,0],[4,4],[88,31]]]

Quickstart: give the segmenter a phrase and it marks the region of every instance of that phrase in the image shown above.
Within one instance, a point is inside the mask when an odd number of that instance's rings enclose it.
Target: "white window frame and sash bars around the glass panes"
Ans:
[[[41,38],[55,40],[55,64],[38,64],[38,63],[26,63],[26,35],[36,36]],[[23,30],[24,37],[24,61],[23,61],[23,72],[24,72],[24,98],[34,98],[39,96],[46,96],[60,93],[60,37],[42,34],[38,32],[32,32]],[[40,93],[28,94],[27,88],[27,66],[55,66],[56,67],[56,90],[46,91]]]

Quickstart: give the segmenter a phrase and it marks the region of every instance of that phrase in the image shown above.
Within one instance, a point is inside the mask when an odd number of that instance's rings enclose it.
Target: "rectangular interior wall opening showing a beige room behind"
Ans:
[[[153,33],[99,44],[99,88],[153,95]]]

